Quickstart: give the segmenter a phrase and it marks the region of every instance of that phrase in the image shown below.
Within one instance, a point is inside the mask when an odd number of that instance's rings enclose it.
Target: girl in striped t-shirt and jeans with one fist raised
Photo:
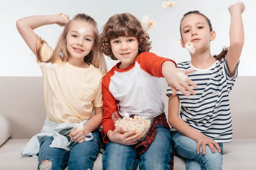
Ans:
[[[220,170],[223,144],[232,141],[232,120],[229,92],[237,77],[237,67],[244,45],[241,14],[244,4],[229,7],[231,14],[230,47],[212,56],[210,42],[216,37],[210,20],[199,11],[189,11],[180,22],[181,45],[193,43],[191,61],[177,64],[189,74],[198,88],[196,95],[184,96],[180,91],[167,89],[169,124],[175,152],[186,158],[188,170]],[[170,95],[171,94],[171,95]],[[181,108],[179,111],[179,101]]]

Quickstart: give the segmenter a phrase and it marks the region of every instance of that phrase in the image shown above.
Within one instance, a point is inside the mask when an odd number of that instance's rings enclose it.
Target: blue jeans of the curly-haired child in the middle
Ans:
[[[135,153],[135,145],[108,142],[102,156],[103,170],[170,170],[172,144],[170,131],[157,124],[157,134],[141,156]]]

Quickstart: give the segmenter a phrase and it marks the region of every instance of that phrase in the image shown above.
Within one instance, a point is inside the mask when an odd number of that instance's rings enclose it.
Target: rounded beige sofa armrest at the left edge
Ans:
[[[0,114],[0,146],[11,136],[11,124],[6,116]]]

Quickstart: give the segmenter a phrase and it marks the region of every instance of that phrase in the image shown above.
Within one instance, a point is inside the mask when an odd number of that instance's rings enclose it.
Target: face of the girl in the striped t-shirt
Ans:
[[[210,31],[207,19],[201,14],[186,15],[180,23],[180,32],[182,47],[185,48],[187,42],[192,42],[195,51],[210,48],[210,41],[216,37],[215,31]]]

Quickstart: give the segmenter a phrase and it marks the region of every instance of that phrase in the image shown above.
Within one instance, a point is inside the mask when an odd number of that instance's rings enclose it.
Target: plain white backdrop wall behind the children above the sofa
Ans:
[[[180,39],[180,20],[188,11],[199,10],[212,22],[217,37],[211,43],[212,54],[218,54],[229,45],[230,13],[228,7],[236,0],[176,0],[173,8],[163,8],[164,0],[1,0],[0,5],[0,76],[38,77],[41,70],[35,56],[27,47],[16,28],[16,21],[30,15],[65,13],[72,18],[77,13],[93,17],[101,28],[113,14],[130,12],[138,19],[147,14],[156,22],[148,30],[152,52],[158,56],[174,59],[176,62],[190,59],[189,52],[183,49]],[[242,15],[245,30],[245,43],[239,65],[239,76],[256,76],[256,1],[244,0]],[[61,34],[58,25],[43,26],[35,32],[53,48]],[[116,63],[106,57],[108,68]]]

